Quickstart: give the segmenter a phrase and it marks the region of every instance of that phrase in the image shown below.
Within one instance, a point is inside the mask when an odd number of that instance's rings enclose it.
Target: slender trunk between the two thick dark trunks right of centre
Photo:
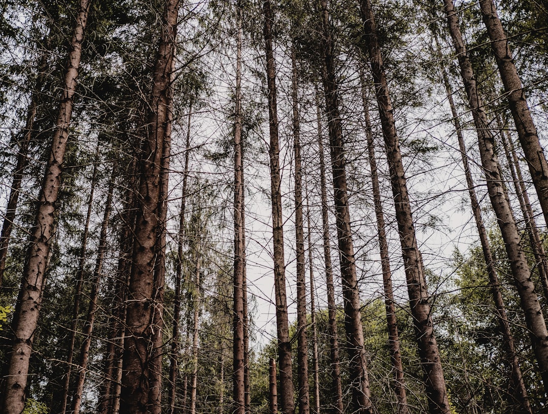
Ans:
[[[390,269],[390,258],[388,252],[388,241],[386,239],[386,226],[384,222],[383,205],[380,199],[379,175],[375,159],[375,144],[369,117],[369,105],[363,69],[360,67],[360,80],[362,86],[363,112],[366,122],[367,151],[369,156],[369,167],[371,170],[371,183],[373,187],[373,204],[375,205],[375,217],[378,229],[380,262],[383,271],[384,304],[386,309],[386,324],[388,326],[388,344],[390,347],[390,358],[394,369],[395,381],[394,390],[398,399],[398,413],[408,414],[406,383],[403,379],[402,355],[400,352],[398,320],[396,317],[396,304],[392,290],[392,271]]]

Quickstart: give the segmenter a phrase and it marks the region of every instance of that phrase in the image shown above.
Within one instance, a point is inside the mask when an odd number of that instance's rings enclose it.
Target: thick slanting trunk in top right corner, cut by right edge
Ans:
[[[503,25],[496,13],[493,0],[480,0],[483,22],[491,40],[491,48],[503,80],[506,99],[516,125],[518,137],[529,165],[529,171],[543,210],[544,220],[548,225],[548,163],[540,146],[533,117],[529,111],[527,97],[514,64],[512,51]]]

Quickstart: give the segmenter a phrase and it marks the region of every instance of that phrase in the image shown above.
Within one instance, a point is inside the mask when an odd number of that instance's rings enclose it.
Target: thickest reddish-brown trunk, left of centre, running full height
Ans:
[[[164,140],[170,133],[170,79],[175,55],[176,24],[179,0],[168,0],[162,19],[155,70],[152,80],[152,96],[149,105],[147,136],[143,142],[140,160],[140,183],[135,222],[133,266],[129,279],[126,332],[121,391],[121,411],[146,413],[156,411],[159,398],[157,340],[155,331],[162,280],[155,277],[155,261],[158,254],[158,233],[163,233],[162,181],[167,180],[165,171]],[[165,190],[164,190],[165,191]],[[156,313],[156,317],[155,317]],[[149,393],[150,398],[149,399]],[[159,389],[158,389],[159,391]],[[150,405],[149,405],[150,402]]]

